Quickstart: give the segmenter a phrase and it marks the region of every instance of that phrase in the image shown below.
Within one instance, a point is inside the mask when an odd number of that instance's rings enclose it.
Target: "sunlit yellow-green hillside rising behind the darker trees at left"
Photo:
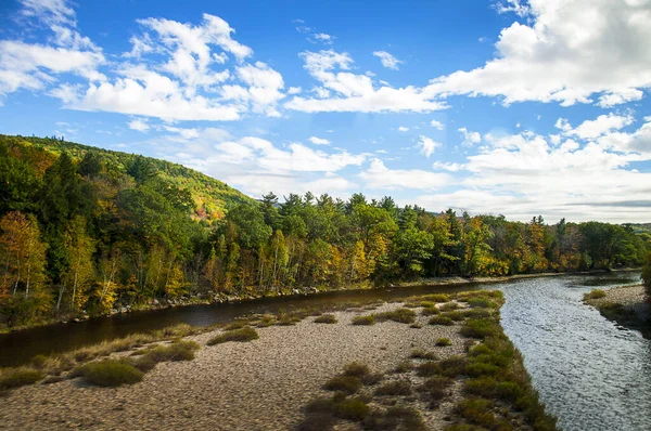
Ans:
[[[40,175],[62,152],[67,152],[75,160],[82,159],[87,153],[94,153],[108,169],[120,173],[126,172],[127,167],[137,157],[142,157],[54,138],[0,134],[1,143],[7,144],[15,157],[29,159],[30,165]],[[226,183],[184,166],[152,157],[143,158],[154,168],[157,175],[191,194],[194,200],[193,218],[197,220],[208,222],[219,220],[237,205],[254,200]]]

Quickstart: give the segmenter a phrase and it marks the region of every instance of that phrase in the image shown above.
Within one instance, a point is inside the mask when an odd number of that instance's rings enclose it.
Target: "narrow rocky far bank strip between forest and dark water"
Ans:
[[[248,293],[245,297],[238,297],[232,295],[219,295],[215,297],[204,298],[202,296],[192,296],[188,298],[179,298],[174,301],[165,301],[165,300],[155,300],[150,301],[149,303],[138,304],[135,306],[122,308],[119,311],[115,310],[115,312],[111,312],[107,314],[102,314],[98,316],[89,316],[88,314],[71,314],[68,316],[59,316],[56,318],[52,318],[49,321],[43,321],[37,324],[11,327],[11,328],[2,328],[0,327],[0,335],[16,332],[22,330],[27,330],[30,328],[39,327],[39,326],[48,326],[55,324],[73,324],[84,322],[93,317],[112,317],[119,314],[128,314],[132,312],[143,312],[143,311],[156,311],[164,310],[169,308],[178,308],[178,306],[192,306],[192,305],[212,305],[212,304],[222,304],[222,303],[237,303],[237,302],[245,302],[245,301],[256,301],[265,298],[292,298],[292,297],[302,297],[302,296],[310,296],[310,295],[319,295],[319,293],[328,293],[328,292],[336,292],[336,291],[356,291],[356,290],[371,290],[371,289],[382,289],[382,288],[391,288],[391,289],[400,289],[405,287],[412,286],[427,286],[427,287],[454,287],[460,285],[470,285],[470,284],[492,284],[492,283],[503,283],[516,279],[525,279],[525,278],[537,278],[537,277],[554,277],[554,276],[563,276],[563,275],[590,275],[590,274],[608,274],[612,272],[633,272],[639,271],[639,267],[625,267],[625,269],[616,269],[616,270],[593,270],[593,271],[580,271],[580,272],[557,272],[557,273],[532,273],[532,274],[515,274],[515,275],[502,275],[502,276],[489,276],[489,277],[473,277],[473,278],[464,278],[464,277],[436,277],[436,278],[423,278],[411,282],[396,282],[383,286],[372,286],[372,285],[357,285],[353,288],[308,288],[308,289],[292,289],[289,291],[271,291],[266,293]]]

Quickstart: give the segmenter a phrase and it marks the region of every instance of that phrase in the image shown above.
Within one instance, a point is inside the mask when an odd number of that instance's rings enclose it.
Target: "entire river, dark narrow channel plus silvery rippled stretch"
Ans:
[[[0,335],[0,366],[178,323],[204,326],[251,313],[481,287],[505,292],[507,302],[501,310],[505,331],[524,355],[533,383],[548,412],[559,418],[561,429],[648,431],[651,430],[651,342],[582,303],[583,295],[593,287],[608,289],[639,283],[639,273],[627,272],[525,278],[481,286],[342,291],[138,312]]]

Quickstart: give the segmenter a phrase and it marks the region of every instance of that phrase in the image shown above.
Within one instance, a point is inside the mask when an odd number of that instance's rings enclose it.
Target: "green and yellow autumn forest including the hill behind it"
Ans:
[[[191,296],[641,266],[649,250],[630,224],[433,213],[361,194],[255,200],[171,162],[0,135],[3,328]]]

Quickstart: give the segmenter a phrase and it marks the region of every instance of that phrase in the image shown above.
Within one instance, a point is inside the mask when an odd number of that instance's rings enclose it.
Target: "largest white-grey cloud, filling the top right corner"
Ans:
[[[560,102],[601,106],[639,100],[651,87],[651,2],[646,0],[507,1],[498,11],[531,24],[503,28],[496,57],[483,67],[431,81],[431,95],[502,96],[505,104]]]

